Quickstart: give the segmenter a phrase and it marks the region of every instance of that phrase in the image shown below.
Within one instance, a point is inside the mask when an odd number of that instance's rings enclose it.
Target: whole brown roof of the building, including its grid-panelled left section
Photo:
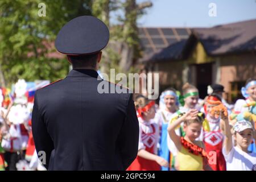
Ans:
[[[256,51],[256,19],[212,28],[140,28],[139,31],[144,50],[139,60],[142,62],[183,59],[191,42],[196,40],[210,56]]]

